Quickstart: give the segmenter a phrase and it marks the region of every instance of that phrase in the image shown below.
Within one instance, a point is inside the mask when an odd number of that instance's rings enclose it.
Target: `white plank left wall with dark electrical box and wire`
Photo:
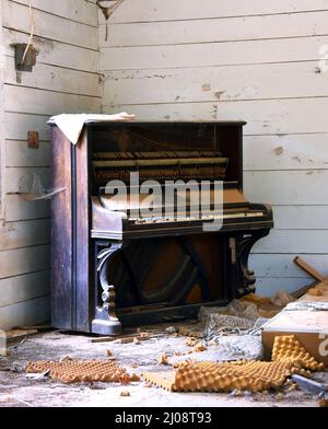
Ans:
[[[49,317],[49,202],[26,202],[31,173],[49,184],[50,143],[46,121],[59,113],[99,112],[98,27],[95,0],[32,0],[32,73],[17,80],[11,44],[26,43],[28,0],[1,0],[3,32],[3,123],[1,148],[0,328]],[[1,86],[0,86],[1,88]],[[0,112],[1,117],[1,112]],[[1,127],[0,127],[1,128]],[[27,148],[38,131],[39,149]]]

